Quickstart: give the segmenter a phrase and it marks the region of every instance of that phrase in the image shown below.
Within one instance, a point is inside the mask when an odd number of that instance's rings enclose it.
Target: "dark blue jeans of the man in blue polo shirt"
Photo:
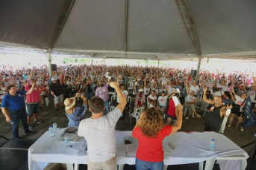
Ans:
[[[19,111],[10,111],[10,119],[13,121],[13,138],[19,137],[19,120],[22,120],[24,132],[28,133],[27,112],[25,108]]]

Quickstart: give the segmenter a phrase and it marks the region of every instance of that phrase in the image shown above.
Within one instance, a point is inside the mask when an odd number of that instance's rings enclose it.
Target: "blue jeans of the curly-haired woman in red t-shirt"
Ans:
[[[162,170],[163,169],[163,161],[160,163],[154,163],[154,162],[147,162],[143,160],[139,160],[136,157],[136,169],[137,170]]]

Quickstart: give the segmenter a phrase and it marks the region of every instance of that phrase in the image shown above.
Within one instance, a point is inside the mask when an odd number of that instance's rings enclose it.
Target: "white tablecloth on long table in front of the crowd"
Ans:
[[[43,169],[48,163],[78,163],[87,164],[87,151],[84,151],[84,139],[72,143],[72,148],[64,146],[63,142],[58,142],[60,134],[65,129],[58,131],[54,137],[49,133],[40,137],[28,149],[28,167],[33,161],[34,169]],[[134,145],[126,146],[123,144],[123,137],[131,136],[131,131],[116,131],[116,161],[117,165],[135,164],[135,154],[138,147],[137,139],[134,139]],[[214,139],[214,151],[209,151],[210,140]],[[175,142],[175,150],[169,143]],[[178,165],[187,163],[200,163],[202,161],[231,155],[249,155],[242,148],[237,146],[227,137],[215,132],[178,132],[163,140],[164,164]],[[219,160],[220,169],[238,170],[241,167],[241,160]]]

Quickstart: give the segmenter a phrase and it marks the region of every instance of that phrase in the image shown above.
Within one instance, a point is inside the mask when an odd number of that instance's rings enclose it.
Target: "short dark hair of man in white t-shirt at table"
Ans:
[[[94,114],[100,114],[104,110],[104,101],[100,97],[92,97],[89,101],[89,108]]]

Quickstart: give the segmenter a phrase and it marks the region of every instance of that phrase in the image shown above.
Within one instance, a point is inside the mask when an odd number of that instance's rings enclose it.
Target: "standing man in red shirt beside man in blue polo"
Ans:
[[[28,82],[25,84],[25,91],[29,91],[34,85],[33,91],[31,94],[26,95],[26,111],[28,114],[28,129],[33,128],[30,124],[31,117],[34,116],[34,123],[41,124],[42,122],[38,120],[38,114],[40,111],[40,105],[42,101],[40,99],[40,90],[37,87],[36,81],[34,79],[28,78]]]

